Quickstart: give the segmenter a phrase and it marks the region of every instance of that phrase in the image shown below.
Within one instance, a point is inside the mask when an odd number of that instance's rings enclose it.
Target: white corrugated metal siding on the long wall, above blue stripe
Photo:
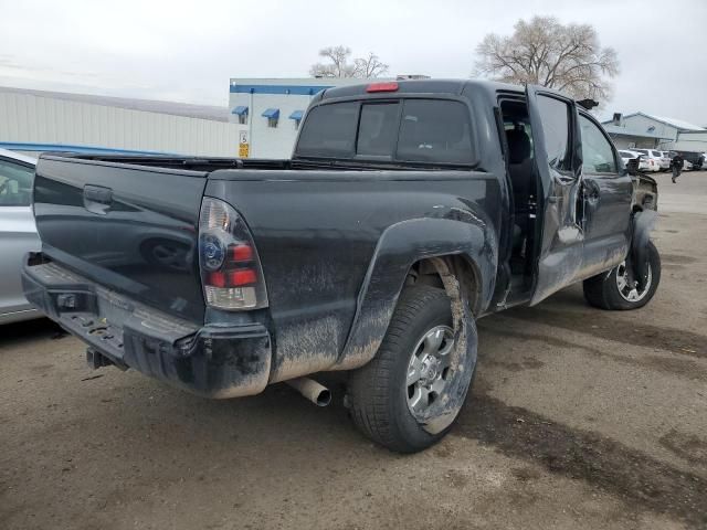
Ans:
[[[0,141],[236,157],[236,124],[0,93]]]

